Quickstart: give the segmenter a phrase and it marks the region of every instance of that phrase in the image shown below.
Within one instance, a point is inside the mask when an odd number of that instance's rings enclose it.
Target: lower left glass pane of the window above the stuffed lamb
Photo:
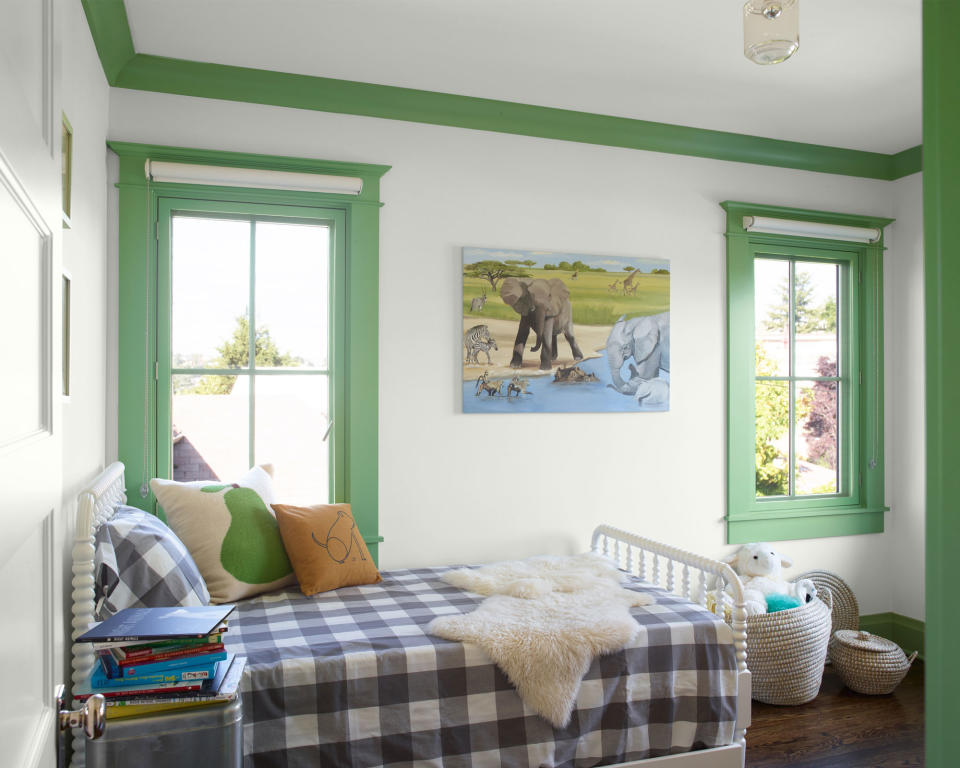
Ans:
[[[756,383],[757,496],[789,492],[790,390],[785,381]]]

